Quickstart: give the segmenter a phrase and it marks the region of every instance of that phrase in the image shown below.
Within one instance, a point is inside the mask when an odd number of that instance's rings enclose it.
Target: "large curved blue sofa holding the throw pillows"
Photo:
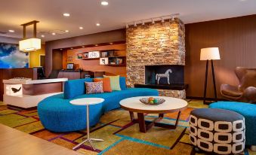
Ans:
[[[125,78],[120,77],[122,90],[112,93],[85,94],[85,81],[92,82],[92,78],[66,81],[64,93],[50,96],[39,102],[39,118],[45,129],[53,132],[71,132],[86,128],[86,107],[71,105],[72,99],[99,97],[104,102],[91,105],[89,109],[90,126],[96,125],[100,116],[107,111],[120,108],[119,102],[134,96],[159,96],[157,90],[148,88],[126,88]]]

